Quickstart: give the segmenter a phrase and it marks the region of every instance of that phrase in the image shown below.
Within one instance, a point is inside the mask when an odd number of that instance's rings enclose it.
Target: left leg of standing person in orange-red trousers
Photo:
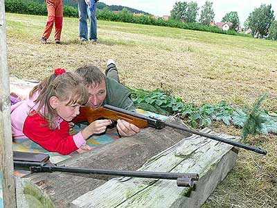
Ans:
[[[46,26],[44,27],[44,32],[42,33],[42,41],[46,43],[46,40],[51,35],[51,31],[55,21],[55,0],[46,1],[46,7],[48,12]]]

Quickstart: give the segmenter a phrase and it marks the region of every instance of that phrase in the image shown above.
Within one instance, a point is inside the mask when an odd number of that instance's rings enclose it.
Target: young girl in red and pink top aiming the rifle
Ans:
[[[26,101],[11,106],[12,137],[28,137],[46,150],[62,155],[90,150],[86,139],[105,132],[111,121],[94,121],[78,134],[69,135],[69,122],[88,98],[87,87],[78,75],[55,69],[32,89]]]

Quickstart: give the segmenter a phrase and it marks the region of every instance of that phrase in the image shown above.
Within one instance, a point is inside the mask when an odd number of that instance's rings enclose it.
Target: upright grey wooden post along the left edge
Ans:
[[[0,159],[3,204],[4,207],[16,207],[4,0],[0,0]]]

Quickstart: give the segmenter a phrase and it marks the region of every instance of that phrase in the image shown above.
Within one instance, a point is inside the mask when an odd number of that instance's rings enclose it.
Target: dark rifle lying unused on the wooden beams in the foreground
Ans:
[[[155,179],[177,180],[178,187],[193,187],[194,181],[199,179],[197,173],[166,173],[166,172],[151,172],[151,171],[118,171],[108,169],[94,169],[94,168],[78,168],[57,166],[48,161],[49,156],[41,153],[21,153],[19,160],[14,159],[13,164],[15,169],[29,170],[30,173],[84,173],[84,174],[98,174],[98,175],[114,175],[125,177],[146,177]],[[26,161],[24,161],[26,155]],[[33,157],[32,157],[33,155]],[[45,160],[47,158],[47,160]]]

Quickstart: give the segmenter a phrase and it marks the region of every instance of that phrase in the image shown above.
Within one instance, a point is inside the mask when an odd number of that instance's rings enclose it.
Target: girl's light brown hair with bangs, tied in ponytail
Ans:
[[[67,101],[66,105],[74,105],[76,103],[84,105],[89,99],[87,87],[82,84],[82,79],[78,74],[71,72],[64,72],[58,76],[53,73],[32,89],[29,95],[30,98],[35,92],[39,92],[39,96],[35,100],[35,103],[39,103],[39,106],[34,114],[38,113],[46,119],[48,121],[47,125],[51,130],[56,128],[56,116],[58,116],[56,110],[50,105],[52,96],[56,96],[59,101]],[[42,110],[43,107],[44,110]]]

